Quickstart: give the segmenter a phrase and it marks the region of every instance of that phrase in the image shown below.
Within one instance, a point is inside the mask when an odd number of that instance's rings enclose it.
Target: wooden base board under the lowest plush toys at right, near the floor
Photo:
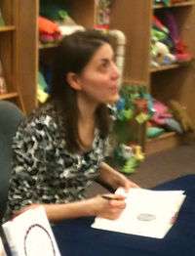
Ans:
[[[157,138],[149,139],[145,144],[146,154],[151,154],[167,149],[173,149],[181,144],[179,136],[175,132],[167,132]]]

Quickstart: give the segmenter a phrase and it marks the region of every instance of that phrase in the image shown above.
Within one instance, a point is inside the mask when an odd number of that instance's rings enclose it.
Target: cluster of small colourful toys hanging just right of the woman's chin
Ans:
[[[140,85],[124,85],[120,90],[120,100],[111,108],[114,122],[108,161],[125,174],[135,172],[144,160],[138,130],[149,119],[150,108],[146,88]]]

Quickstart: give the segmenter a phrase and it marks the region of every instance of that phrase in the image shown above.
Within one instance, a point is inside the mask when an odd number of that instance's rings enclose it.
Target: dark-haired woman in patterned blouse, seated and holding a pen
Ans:
[[[113,189],[137,187],[103,162],[110,123],[106,105],[119,99],[118,78],[106,36],[87,30],[63,38],[50,102],[20,125],[14,140],[8,216],[42,204],[53,222],[119,217],[124,196],[84,196],[96,179]]]

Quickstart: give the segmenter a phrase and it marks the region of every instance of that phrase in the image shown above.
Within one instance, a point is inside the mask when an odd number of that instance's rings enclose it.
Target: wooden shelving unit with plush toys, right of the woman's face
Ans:
[[[148,92],[158,100],[169,103],[171,99],[187,107],[190,117],[195,119],[195,68],[190,63],[179,63],[150,67],[151,24],[154,12],[164,12],[162,6],[153,6],[153,1],[114,1],[111,16],[112,27],[121,29],[127,36],[126,67],[124,79],[126,84],[140,81]],[[186,1],[172,5],[176,16],[180,37],[192,55],[195,55],[195,2]],[[134,10],[132,12],[132,10]],[[129,15],[131,13],[131,16]],[[144,42],[144,43],[143,43]],[[166,133],[160,138],[143,140],[146,153],[154,153],[176,147],[180,138],[176,133]]]

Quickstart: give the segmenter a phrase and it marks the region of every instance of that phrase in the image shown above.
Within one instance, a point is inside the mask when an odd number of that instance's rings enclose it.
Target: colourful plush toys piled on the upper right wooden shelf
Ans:
[[[172,11],[153,16],[151,28],[151,65],[189,62],[192,55],[179,36],[176,19]]]

